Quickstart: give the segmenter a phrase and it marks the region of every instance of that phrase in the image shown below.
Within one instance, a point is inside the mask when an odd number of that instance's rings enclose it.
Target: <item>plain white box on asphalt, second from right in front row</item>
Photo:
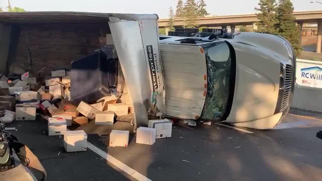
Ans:
[[[136,143],[147,145],[155,143],[155,128],[139,127],[136,131]]]

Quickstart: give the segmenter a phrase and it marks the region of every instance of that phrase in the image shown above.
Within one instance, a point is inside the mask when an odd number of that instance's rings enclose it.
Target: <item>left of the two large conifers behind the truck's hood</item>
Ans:
[[[257,23],[258,30],[260,33],[276,34],[278,19],[277,19],[277,5],[275,0],[260,0],[258,4],[260,8],[255,8],[255,10],[260,11],[257,14],[259,22]]]

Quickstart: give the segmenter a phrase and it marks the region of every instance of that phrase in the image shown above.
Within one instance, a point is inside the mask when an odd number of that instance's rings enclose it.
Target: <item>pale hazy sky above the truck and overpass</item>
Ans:
[[[204,1],[208,13],[215,16],[255,13],[254,8],[259,2],[259,0]],[[322,5],[311,4],[310,1],[292,0],[295,11],[322,10]],[[157,14],[159,18],[167,18],[170,7],[176,10],[177,0],[11,0],[10,4],[26,11]],[[7,6],[8,0],[0,0],[0,7],[6,10]]]

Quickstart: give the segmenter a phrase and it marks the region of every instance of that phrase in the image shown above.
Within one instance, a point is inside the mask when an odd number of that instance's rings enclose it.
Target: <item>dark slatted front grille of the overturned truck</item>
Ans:
[[[286,65],[285,67],[285,88],[281,104],[281,112],[284,111],[290,102],[293,85],[293,67],[292,65]]]

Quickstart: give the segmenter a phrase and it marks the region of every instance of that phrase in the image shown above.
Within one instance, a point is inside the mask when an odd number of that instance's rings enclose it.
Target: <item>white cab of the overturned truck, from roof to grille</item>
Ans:
[[[243,32],[159,39],[167,116],[271,129],[288,112],[296,61],[284,38]]]

